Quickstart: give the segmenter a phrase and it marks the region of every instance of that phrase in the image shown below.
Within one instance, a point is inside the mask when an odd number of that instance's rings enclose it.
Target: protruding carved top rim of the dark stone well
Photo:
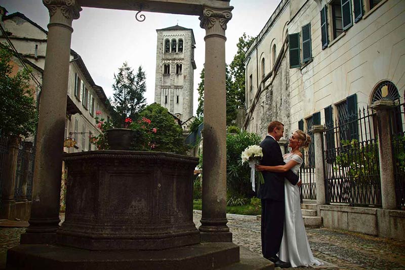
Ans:
[[[146,161],[169,161],[188,163],[192,165],[198,164],[198,158],[179,155],[168,152],[149,152],[149,151],[130,151],[130,150],[95,150],[87,152],[65,153],[63,154],[64,161],[76,160],[146,160]]]

